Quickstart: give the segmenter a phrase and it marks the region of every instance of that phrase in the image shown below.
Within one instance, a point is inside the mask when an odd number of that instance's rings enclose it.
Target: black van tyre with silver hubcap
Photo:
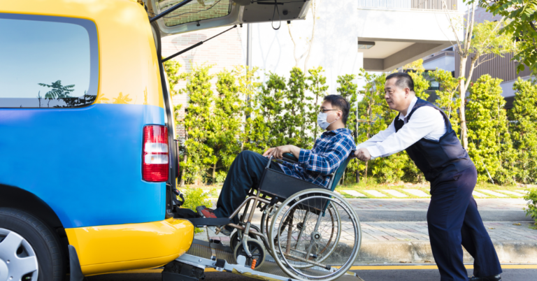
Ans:
[[[0,208],[0,280],[61,281],[64,254],[58,240],[33,215]]]

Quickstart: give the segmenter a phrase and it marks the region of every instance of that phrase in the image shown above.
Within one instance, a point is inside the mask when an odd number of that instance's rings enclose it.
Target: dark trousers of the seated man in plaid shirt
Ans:
[[[248,191],[258,187],[268,158],[259,153],[245,150],[237,155],[227,172],[222,192],[216,203],[216,217],[229,217],[244,202]],[[282,171],[280,165],[271,162],[271,169]],[[234,223],[238,217],[234,217]]]

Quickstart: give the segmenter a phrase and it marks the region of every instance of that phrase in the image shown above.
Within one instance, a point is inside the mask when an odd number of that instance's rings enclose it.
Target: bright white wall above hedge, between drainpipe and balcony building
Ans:
[[[322,66],[329,85],[329,94],[336,93],[337,77],[343,74],[357,74],[363,67],[363,56],[357,46],[357,20],[355,1],[341,1],[337,6],[333,1],[317,0],[315,36],[308,60],[308,69]],[[278,22],[274,22],[277,27]],[[273,30],[271,23],[252,24],[252,65],[279,75],[289,75],[296,65],[294,45],[289,36],[286,22],[279,30]],[[297,20],[289,24],[296,43],[296,57],[306,51],[311,38],[313,17]],[[245,28],[244,28],[245,29]],[[242,33],[243,57],[246,58],[246,30]],[[304,70],[306,55],[299,59],[298,67]],[[357,81],[358,82],[358,81]]]

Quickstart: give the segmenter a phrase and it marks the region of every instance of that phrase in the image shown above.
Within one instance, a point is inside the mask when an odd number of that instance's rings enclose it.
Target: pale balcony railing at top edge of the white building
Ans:
[[[389,10],[457,10],[457,0],[358,0],[358,6]]]

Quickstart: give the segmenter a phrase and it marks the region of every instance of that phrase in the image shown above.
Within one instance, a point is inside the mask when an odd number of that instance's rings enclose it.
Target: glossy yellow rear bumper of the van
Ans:
[[[184,219],[66,229],[84,275],[154,268],[187,252],[194,226]]]

